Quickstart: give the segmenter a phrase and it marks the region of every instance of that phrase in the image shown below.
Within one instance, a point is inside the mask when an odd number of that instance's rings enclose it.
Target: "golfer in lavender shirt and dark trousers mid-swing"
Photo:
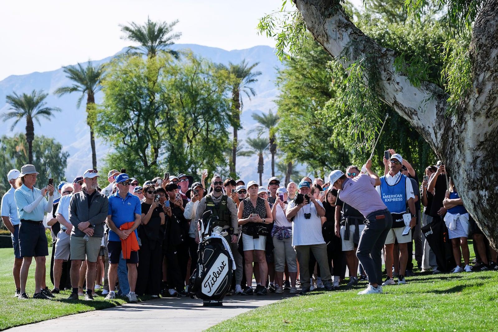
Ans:
[[[391,228],[391,213],[384,205],[375,186],[380,185],[379,177],[372,172],[372,160],[365,165],[367,174],[350,179],[342,171],[335,170],[329,175],[330,183],[338,190],[339,199],[361,212],[367,219],[360,236],[356,256],[369,277],[369,286],[359,295],[382,293],[382,260],[380,251]]]

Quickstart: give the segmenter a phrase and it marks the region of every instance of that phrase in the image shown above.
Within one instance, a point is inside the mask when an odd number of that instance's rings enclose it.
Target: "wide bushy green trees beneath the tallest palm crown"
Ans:
[[[202,168],[225,174],[230,83],[225,69],[191,53],[181,61],[166,53],[113,59],[96,123],[113,148],[107,167],[141,179]]]

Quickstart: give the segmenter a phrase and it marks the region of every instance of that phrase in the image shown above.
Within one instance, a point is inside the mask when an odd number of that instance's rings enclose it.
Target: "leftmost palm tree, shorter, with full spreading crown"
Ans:
[[[33,139],[34,139],[34,125],[33,120],[40,124],[40,117],[50,120],[54,111],[61,111],[57,107],[45,107],[47,104],[43,100],[48,96],[44,94],[43,90],[38,93],[33,90],[30,95],[22,94],[17,95],[15,92],[6,97],[7,104],[10,105],[9,112],[3,113],[1,118],[6,121],[11,118],[16,118],[10,130],[13,130],[17,122],[22,118],[26,118],[26,142],[28,143],[28,161],[29,164],[33,163]]]

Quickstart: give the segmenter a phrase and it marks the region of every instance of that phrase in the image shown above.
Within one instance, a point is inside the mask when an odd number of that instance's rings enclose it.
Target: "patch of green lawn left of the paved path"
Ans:
[[[50,250],[51,248],[49,248]],[[47,286],[52,289],[50,283],[50,256],[47,256]],[[110,308],[126,303],[124,298],[114,301],[106,301],[104,297],[95,297],[95,301],[67,301],[71,291],[63,291],[55,294],[52,300],[18,300],[12,295],[15,284],[12,277],[12,264],[14,252],[12,248],[0,249],[0,330],[14,326],[45,321],[51,318],[82,313],[97,309]],[[35,261],[31,263],[26,293],[32,297],[34,293],[34,269]],[[80,297],[81,299],[81,297]]]

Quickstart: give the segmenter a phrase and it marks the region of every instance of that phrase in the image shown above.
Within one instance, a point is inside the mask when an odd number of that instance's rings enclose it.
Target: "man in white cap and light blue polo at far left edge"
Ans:
[[[19,216],[17,215],[17,206],[14,201],[14,191],[16,188],[15,181],[21,172],[16,169],[11,169],[7,174],[7,180],[10,184],[10,189],[1,198],[1,219],[5,227],[10,231],[12,237],[12,246],[14,247],[14,266],[12,274],[14,275],[15,293],[14,297],[18,297],[21,290],[20,272],[22,265],[22,256],[19,251]]]

